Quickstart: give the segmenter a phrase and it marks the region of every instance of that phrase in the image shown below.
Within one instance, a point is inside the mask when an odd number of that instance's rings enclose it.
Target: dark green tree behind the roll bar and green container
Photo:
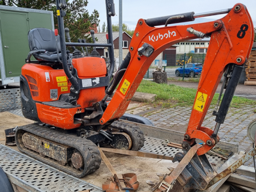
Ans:
[[[84,36],[91,29],[97,28],[100,20],[99,12],[94,9],[92,14],[85,9],[88,0],[66,0],[67,8],[65,9],[66,16],[64,17],[64,25],[69,28],[69,34],[72,42],[77,42],[79,38],[86,38],[86,42],[92,43],[92,38]],[[2,0],[2,5],[24,7],[40,10],[49,10],[56,13],[55,0]],[[58,28],[57,15],[53,14],[54,28]]]

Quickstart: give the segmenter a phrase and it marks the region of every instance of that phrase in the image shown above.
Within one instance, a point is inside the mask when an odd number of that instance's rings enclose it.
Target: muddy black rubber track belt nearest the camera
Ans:
[[[23,132],[22,130],[77,149],[84,158],[84,169],[76,170],[75,168],[67,165],[62,166],[56,160],[53,160],[49,157],[42,157],[37,152],[25,148],[22,144],[22,134],[20,134]],[[68,174],[71,174],[75,177],[84,177],[85,175],[96,171],[100,167],[101,158],[100,151],[98,150],[97,146],[90,140],[79,138],[76,135],[68,134],[62,129],[52,130],[38,124],[29,124],[18,127],[16,130],[15,138],[17,147],[21,152],[32,156],[45,164],[49,164],[57,169],[60,169],[61,171],[67,172]]]

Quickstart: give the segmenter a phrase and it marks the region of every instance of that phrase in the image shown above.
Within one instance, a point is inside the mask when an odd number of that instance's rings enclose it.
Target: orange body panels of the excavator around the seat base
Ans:
[[[102,58],[77,58],[72,60],[72,64],[80,78],[102,77],[107,73],[106,63]],[[79,127],[81,123],[75,124],[74,116],[83,113],[84,108],[92,107],[105,94],[105,87],[83,89],[77,100],[79,107],[56,107],[53,102],[58,102],[62,94],[70,93],[71,84],[63,69],[27,63],[22,67],[21,74],[29,84],[32,100],[36,102],[38,119],[63,129]]]

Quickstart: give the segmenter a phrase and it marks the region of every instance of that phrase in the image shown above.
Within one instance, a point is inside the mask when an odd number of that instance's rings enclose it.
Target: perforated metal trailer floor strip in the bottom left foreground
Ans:
[[[0,167],[8,177],[19,178],[16,182],[19,180],[26,188],[32,188],[30,191],[78,192],[90,189],[92,192],[102,192],[99,187],[60,172],[4,145],[0,145]]]

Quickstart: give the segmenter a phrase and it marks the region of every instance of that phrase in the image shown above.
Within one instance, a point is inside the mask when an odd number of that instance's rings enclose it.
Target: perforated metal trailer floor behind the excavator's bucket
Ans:
[[[164,155],[164,156],[171,156],[171,157],[174,157],[174,155],[177,152],[183,152],[182,149],[162,145],[163,141],[164,140],[156,139],[153,137],[145,137],[144,146],[140,149],[140,151],[147,152],[147,153],[155,153],[155,154]],[[206,156],[209,159],[209,162],[212,164],[212,167],[215,169],[216,172],[219,172],[218,169],[220,169],[220,167],[227,161],[227,160],[221,159],[218,156],[212,156],[207,154]]]

